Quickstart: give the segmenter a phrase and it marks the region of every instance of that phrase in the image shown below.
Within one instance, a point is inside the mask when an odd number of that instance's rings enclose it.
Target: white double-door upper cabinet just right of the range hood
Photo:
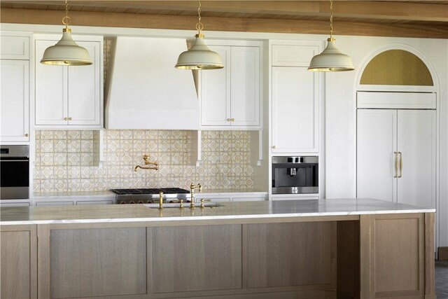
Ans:
[[[260,126],[260,47],[209,46],[224,68],[201,71],[201,126],[248,130]]]

